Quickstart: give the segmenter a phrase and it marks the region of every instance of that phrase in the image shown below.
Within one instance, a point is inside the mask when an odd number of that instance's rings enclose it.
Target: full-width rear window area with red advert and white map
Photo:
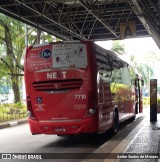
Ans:
[[[27,56],[27,70],[86,68],[87,52],[82,43],[59,43],[32,48]]]

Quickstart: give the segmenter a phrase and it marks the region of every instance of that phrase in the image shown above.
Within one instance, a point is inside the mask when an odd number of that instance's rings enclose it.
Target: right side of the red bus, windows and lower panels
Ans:
[[[115,109],[121,122],[135,115],[135,103],[127,62],[97,45],[95,51],[98,68],[99,131],[104,132],[114,124]]]

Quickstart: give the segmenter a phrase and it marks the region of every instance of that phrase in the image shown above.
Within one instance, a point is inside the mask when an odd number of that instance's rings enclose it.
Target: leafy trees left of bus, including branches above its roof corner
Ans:
[[[14,102],[17,103],[21,100],[20,84],[24,70],[22,63],[25,49],[24,23],[0,14],[0,31],[0,80],[11,83]],[[28,35],[30,45],[57,40],[54,36],[30,26]]]

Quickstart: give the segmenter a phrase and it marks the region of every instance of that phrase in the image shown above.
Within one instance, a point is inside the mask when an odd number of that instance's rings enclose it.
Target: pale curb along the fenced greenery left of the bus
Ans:
[[[25,123],[28,123],[28,118],[6,121],[6,122],[0,123],[0,129],[13,127],[13,126],[17,126],[17,125],[25,124]]]

